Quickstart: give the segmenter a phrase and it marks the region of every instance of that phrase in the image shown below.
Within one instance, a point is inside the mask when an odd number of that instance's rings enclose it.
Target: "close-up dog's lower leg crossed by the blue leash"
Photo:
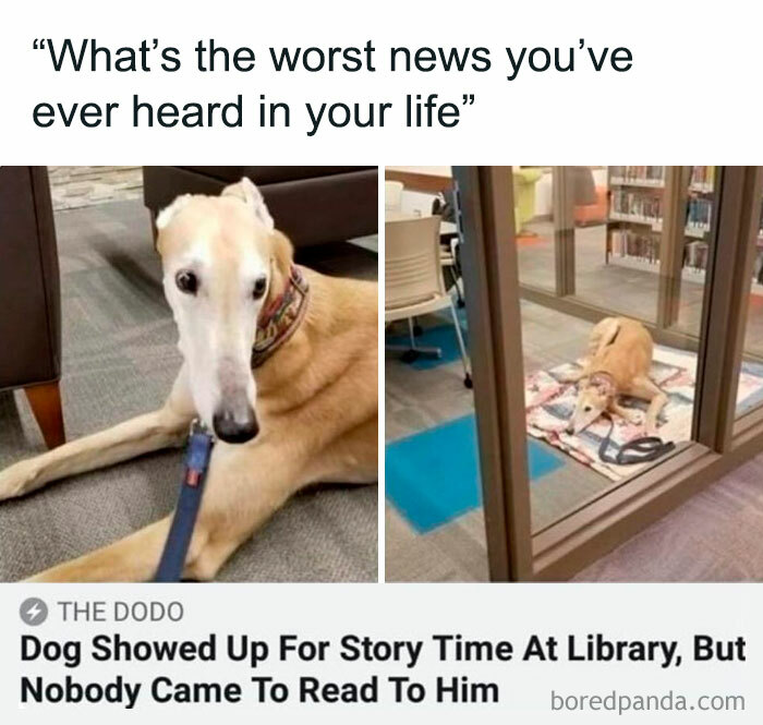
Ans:
[[[288,440],[279,431],[253,445],[215,446],[185,578],[214,579],[235,549],[300,488],[318,481],[368,483],[376,478],[375,420],[349,431],[319,454],[311,455]],[[28,581],[147,581],[159,564],[169,523],[168,517]]]

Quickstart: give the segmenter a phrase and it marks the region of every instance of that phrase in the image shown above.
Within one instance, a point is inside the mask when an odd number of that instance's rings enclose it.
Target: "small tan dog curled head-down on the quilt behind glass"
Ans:
[[[582,367],[565,378],[578,383],[579,390],[567,433],[580,433],[605,411],[639,423],[640,414],[619,403],[620,396],[631,396],[650,403],[644,428],[646,435],[655,435],[667,396],[650,378],[652,350],[652,336],[634,319],[606,317],[595,325]]]

